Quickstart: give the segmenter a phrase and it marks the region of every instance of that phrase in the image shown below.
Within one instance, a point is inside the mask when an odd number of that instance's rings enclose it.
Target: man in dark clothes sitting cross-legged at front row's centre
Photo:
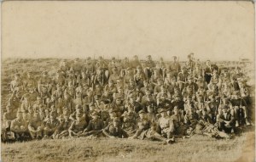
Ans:
[[[103,129],[102,133],[106,137],[110,138],[125,138],[129,136],[127,132],[121,127],[119,118],[114,118],[113,121]]]

